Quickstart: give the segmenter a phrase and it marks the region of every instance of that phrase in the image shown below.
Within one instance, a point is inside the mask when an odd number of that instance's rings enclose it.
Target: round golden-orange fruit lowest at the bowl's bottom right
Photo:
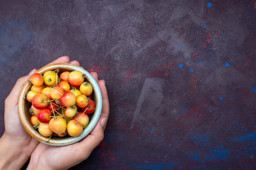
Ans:
[[[80,122],[78,122],[77,120],[70,120],[67,123],[67,133],[68,135],[72,136],[72,137],[77,137],[79,135],[81,135],[83,132],[83,126]]]

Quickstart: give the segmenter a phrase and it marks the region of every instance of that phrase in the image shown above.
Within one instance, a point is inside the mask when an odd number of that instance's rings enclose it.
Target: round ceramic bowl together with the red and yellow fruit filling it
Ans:
[[[89,72],[69,63],[46,65],[32,74],[18,101],[25,130],[53,146],[86,137],[96,126],[101,109],[98,83]]]

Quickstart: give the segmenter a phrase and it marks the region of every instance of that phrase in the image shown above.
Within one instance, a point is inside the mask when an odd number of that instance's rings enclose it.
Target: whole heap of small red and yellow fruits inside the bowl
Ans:
[[[88,114],[95,110],[93,88],[82,72],[59,70],[31,75],[32,86],[26,94],[31,102],[30,122],[45,137],[77,137],[89,124]]]

